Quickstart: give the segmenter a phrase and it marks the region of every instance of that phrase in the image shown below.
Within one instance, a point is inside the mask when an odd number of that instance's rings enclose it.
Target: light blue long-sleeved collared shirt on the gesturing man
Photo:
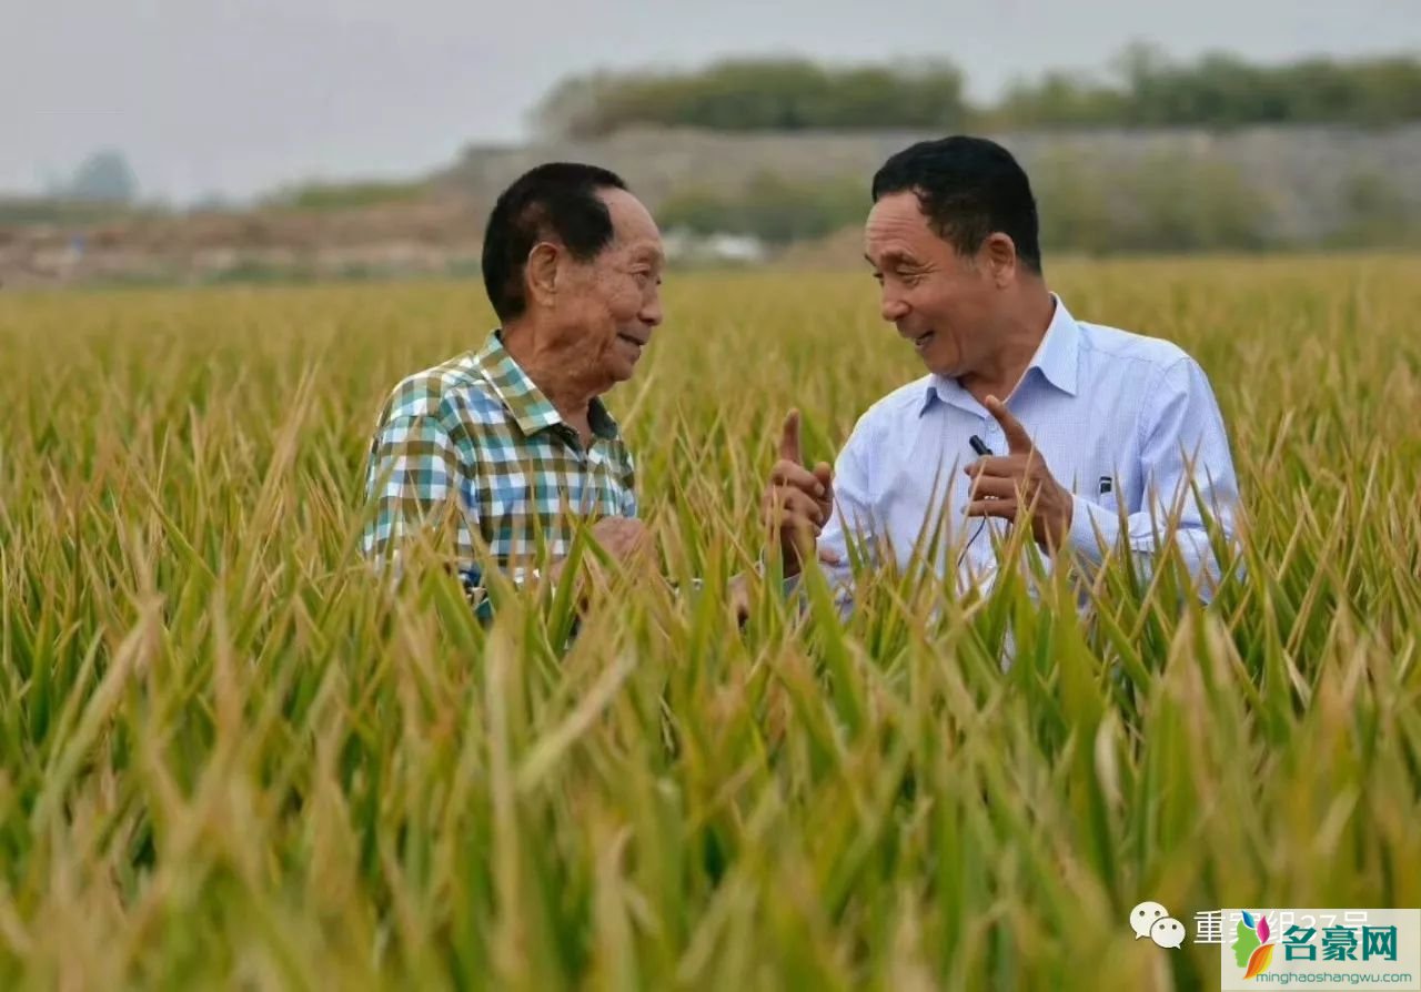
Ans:
[[[1110,549],[1128,549],[1148,567],[1155,534],[1169,532],[1174,512],[1172,540],[1208,598],[1219,563],[1194,489],[1229,541],[1238,503],[1208,378],[1178,345],[1077,321],[1060,297],[1053,300],[1046,337],[1006,405],[1054,479],[1074,495],[1070,546],[1077,560],[1098,567]],[[938,574],[955,567],[959,588],[992,583],[998,560],[983,527],[1005,537],[1010,524],[963,516],[971,479],[962,469],[976,459],[968,445],[973,433],[993,453],[1007,452],[988,409],[939,375],[909,382],[860,418],[838,455],[837,509],[820,537],[844,561],[828,568],[831,581],[850,590],[850,536],[863,541],[870,564],[887,553],[908,567],[925,530],[931,539],[941,527]]]

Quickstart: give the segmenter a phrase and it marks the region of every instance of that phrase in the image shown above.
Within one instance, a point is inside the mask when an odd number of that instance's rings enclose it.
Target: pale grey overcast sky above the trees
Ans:
[[[1421,1],[0,0],[0,190],[126,152],[146,196],[414,175],[517,139],[561,75],[801,53],[945,55],[975,98],[1015,75],[1177,57],[1421,50]]]

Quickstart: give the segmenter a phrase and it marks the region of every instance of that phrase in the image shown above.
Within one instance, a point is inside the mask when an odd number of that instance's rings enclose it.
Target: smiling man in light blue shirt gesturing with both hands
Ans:
[[[766,493],[786,573],[817,536],[844,588],[851,541],[899,566],[938,547],[939,574],[989,584],[998,561],[983,530],[1030,510],[1034,540],[1087,570],[1111,551],[1148,567],[1165,534],[1208,598],[1219,563],[1205,510],[1232,540],[1238,486],[1198,362],[1070,314],[1042,274],[1026,173],[990,141],[898,152],[872,200],[864,243],[882,317],[928,374],[860,418],[831,478],[801,466],[786,435]],[[948,540],[931,543],[935,533]]]

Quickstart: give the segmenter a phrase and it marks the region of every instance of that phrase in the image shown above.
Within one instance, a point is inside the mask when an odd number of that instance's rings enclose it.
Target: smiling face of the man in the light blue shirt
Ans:
[[[864,256],[882,287],[882,317],[938,375],[971,375],[992,354],[1002,294],[990,246],[958,254],[912,192],[882,196],[868,213]]]

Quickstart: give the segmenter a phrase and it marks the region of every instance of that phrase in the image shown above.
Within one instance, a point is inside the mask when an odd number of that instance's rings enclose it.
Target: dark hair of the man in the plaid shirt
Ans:
[[[483,289],[500,321],[527,310],[523,270],[529,252],[556,240],[580,262],[595,259],[612,240],[612,219],[601,189],[627,189],[615,172],[578,162],[547,162],[503,190],[483,230]]]

